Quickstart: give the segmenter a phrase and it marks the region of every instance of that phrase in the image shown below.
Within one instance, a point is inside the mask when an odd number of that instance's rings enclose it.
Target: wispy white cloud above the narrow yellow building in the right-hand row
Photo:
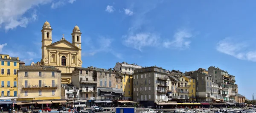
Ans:
[[[189,38],[192,37],[192,34],[188,32],[186,29],[179,30],[175,32],[173,41],[165,41],[163,42],[163,46],[166,48],[175,48],[175,49],[186,49],[190,46]]]

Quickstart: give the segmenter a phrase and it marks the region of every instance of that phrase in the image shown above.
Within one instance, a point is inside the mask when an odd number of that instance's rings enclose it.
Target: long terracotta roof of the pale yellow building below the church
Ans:
[[[60,71],[53,66],[20,66],[19,71]]]

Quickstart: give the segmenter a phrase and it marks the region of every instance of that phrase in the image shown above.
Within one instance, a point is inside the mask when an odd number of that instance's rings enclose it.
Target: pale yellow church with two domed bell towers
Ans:
[[[42,32],[42,59],[40,65],[54,66],[61,70],[61,84],[71,83],[71,73],[75,67],[82,67],[81,31],[75,26],[71,36],[72,43],[65,40],[52,43],[52,26],[45,22]]]

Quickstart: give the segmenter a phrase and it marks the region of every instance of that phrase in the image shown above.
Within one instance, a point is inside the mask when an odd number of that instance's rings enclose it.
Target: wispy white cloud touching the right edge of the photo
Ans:
[[[217,43],[216,49],[241,60],[256,62],[256,51],[247,51],[247,47],[247,43],[234,42],[231,38],[224,38]]]

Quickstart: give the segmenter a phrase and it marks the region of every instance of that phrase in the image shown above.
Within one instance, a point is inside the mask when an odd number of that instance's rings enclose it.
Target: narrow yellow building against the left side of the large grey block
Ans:
[[[120,71],[116,71],[117,75],[122,76],[122,84],[123,86],[121,86],[123,92],[125,93],[124,96],[124,100],[132,100],[132,74],[130,72],[120,72]],[[116,81],[117,82],[117,81]]]

